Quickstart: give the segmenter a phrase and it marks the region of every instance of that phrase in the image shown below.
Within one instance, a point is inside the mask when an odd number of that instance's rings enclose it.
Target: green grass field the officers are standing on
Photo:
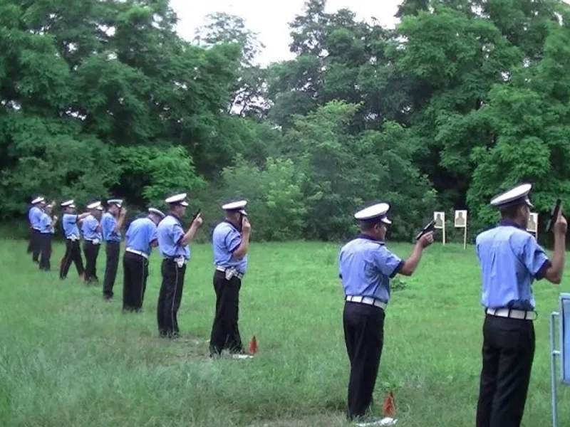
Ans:
[[[411,247],[390,248],[407,256]],[[240,328],[253,360],[207,359],[214,310],[211,247],[192,246],[179,312],[185,342],[157,337],[160,258],[153,253],[143,312],[86,287],[72,266],[65,282],[41,273],[26,243],[0,243],[0,425],[41,427],[344,426],[348,359],[337,245],[253,244]],[[104,248],[98,259],[103,279]],[[568,275],[565,276],[568,279]],[[535,285],[537,353],[524,426],[551,425],[549,312],[560,289]],[[475,425],[483,313],[474,248],[428,248],[393,292],[375,401],[393,387],[401,427]],[[560,425],[570,419],[562,389]]]

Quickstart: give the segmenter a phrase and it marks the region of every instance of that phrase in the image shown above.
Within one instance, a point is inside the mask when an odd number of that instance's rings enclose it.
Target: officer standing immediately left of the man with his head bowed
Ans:
[[[108,210],[101,217],[101,235],[105,241],[105,277],[103,278],[103,298],[113,298],[113,286],[117,278],[120,255],[120,229],[123,227],[127,209],[122,209],[123,201],[109,199]]]

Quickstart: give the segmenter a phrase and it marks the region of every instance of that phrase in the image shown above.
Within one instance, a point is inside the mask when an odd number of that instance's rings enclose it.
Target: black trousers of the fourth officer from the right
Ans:
[[[178,267],[174,260],[165,259],[162,260],[160,271],[162,284],[157,305],[158,333],[161,337],[177,337],[180,330],[176,315],[182,300],[186,264]]]

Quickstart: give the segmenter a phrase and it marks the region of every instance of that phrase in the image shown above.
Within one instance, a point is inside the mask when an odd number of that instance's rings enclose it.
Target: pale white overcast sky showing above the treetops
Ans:
[[[289,22],[302,13],[304,0],[170,0],[170,4],[180,19],[178,32],[187,40],[194,38],[207,14],[226,12],[241,16],[265,45],[258,60],[267,65],[291,58]],[[328,0],[327,11],[348,8],[358,19],[374,16],[384,26],[393,27],[398,4],[400,0]]]

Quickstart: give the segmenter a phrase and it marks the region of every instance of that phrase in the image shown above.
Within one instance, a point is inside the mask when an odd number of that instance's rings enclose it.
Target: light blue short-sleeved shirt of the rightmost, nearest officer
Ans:
[[[476,239],[486,308],[534,310],[532,282],[544,278],[550,261],[531,234],[502,221]]]

